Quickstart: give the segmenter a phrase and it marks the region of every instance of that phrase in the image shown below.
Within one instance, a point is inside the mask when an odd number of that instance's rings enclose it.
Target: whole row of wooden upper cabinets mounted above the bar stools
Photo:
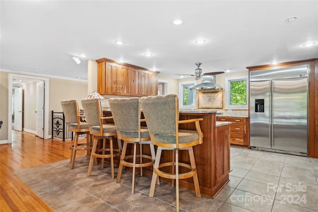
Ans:
[[[101,95],[149,96],[158,93],[158,71],[102,58],[97,62],[97,92]]]

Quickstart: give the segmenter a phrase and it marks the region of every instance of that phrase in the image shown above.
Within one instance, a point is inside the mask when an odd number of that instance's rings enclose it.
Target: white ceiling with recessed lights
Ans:
[[[0,10],[0,65],[12,71],[87,79],[87,60],[109,58],[179,78],[196,62],[203,72],[240,72],[318,58],[318,0],[1,0]]]

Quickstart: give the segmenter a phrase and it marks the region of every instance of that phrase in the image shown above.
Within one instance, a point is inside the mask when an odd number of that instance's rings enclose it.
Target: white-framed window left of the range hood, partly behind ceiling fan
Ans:
[[[196,81],[179,82],[179,107],[183,109],[195,108],[196,92],[190,90]]]

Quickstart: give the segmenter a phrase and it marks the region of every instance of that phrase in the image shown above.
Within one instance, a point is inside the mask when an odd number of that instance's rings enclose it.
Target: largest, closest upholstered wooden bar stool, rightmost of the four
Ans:
[[[149,129],[151,141],[158,146],[149,197],[154,197],[156,179],[160,177],[175,179],[176,183],[176,211],[179,211],[179,179],[193,177],[196,197],[201,197],[198,175],[192,146],[201,144],[203,135],[199,121],[202,118],[179,121],[178,97],[174,94],[166,96],[149,96],[141,98],[141,106]],[[179,124],[195,122],[196,131],[179,130]],[[162,150],[173,150],[172,161],[160,164]],[[188,150],[190,165],[179,162],[179,150]],[[171,166],[171,173],[160,170]],[[175,168],[174,168],[175,166]],[[179,173],[179,166],[189,169],[186,173]],[[167,169],[165,169],[167,170]],[[175,173],[174,173],[175,172]]]

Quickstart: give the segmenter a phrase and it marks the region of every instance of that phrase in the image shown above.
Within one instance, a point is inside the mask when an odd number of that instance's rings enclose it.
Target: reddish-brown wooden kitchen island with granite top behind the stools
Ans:
[[[104,113],[110,116],[108,108],[104,108]],[[231,122],[216,122],[216,110],[179,110],[179,120],[196,118],[203,118],[203,121],[200,121],[203,143],[193,146],[200,191],[201,194],[214,198],[229,182]],[[180,124],[179,129],[195,130],[195,123]],[[128,148],[131,149],[127,149],[127,152],[132,153],[132,145]],[[148,145],[143,146],[143,153],[150,154]],[[172,151],[162,151],[161,162],[171,161],[171,158]],[[188,151],[180,151],[179,162],[190,163]],[[182,173],[182,169],[180,172]],[[144,167],[143,174],[151,177],[152,167]],[[160,180],[171,183],[171,180],[165,178]],[[192,178],[179,180],[179,186],[194,191]]]

